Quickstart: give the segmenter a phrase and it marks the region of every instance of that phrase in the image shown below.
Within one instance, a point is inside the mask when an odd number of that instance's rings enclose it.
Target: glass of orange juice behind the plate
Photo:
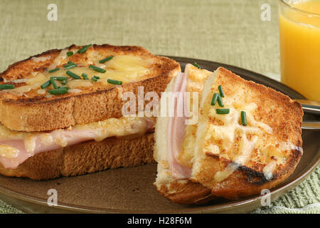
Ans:
[[[320,0],[279,0],[281,81],[320,101]]]

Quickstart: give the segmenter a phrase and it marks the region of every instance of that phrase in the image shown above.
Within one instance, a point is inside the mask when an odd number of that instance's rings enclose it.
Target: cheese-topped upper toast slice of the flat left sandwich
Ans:
[[[84,53],[78,53],[83,46],[72,45],[63,50],[50,50],[12,64],[0,74],[1,84],[14,84],[11,90],[1,90],[0,122],[11,130],[44,131],[68,128],[119,118],[122,116],[122,94],[132,91],[138,98],[138,86],[144,86],[144,93],[155,91],[160,94],[178,71],[179,64],[166,57],[154,56],[138,46],[93,45]],[[73,51],[72,56],[67,52]],[[104,63],[108,56],[113,58]],[[68,61],[77,65],[65,69]],[[94,65],[105,69],[99,73],[88,68]],[[60,68],[49,73],[49,70]],[[66,71],[89,80],[74,80]],[[52,95],[41,85],[51,76],[68,77],[69,93]],[[100,79],[91,80],[93,76]],[[122,86],[108,83],[107,79],[122,81]],[[57,86],[60,81],[56,81]]]

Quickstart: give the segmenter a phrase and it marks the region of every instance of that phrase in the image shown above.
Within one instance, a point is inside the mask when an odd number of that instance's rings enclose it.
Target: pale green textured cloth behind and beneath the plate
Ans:
[[[50,3],[58,6],[58,21],[47,19]],[[266,3],[271,21],[260,19]],[[110,43],[228,63],[279,80],[277,0],[1,0],[0,15],[0,71],[48,49]],[[319,178],[317,167],[255,213],[320,213]],[[0,200],[1,212],[20,211]]]

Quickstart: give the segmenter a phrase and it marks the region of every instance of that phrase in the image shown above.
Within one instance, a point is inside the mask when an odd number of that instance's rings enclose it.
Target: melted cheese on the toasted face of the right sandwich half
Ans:
[[[273,136],[272,128],[269,125],[255,120],[253,113],[257,109],[257,104],[243,102],[242,95],[238,93],[223,98],[225,104],[223,108],[228,108],[230,113],[226,115],[217,114],[216,109],[220,108],[218,103],[212,106],[210,101],[213,93],[217,93],[218,89],[215,83],[211,84],[214,88],[210,89],[209,92],[208,87],[206,87],[206,93],[203,93],[208,95],[201,100],[201,111],[205,118],[201,119],[202,130],[198,130],[198,132],[203,131],[201,133],[203,144],[201,149],[198,150],[201,154],[198,155],[201,155],[201,160],[206,160],[208,155],[231,160],[223,170],[215,172],[214,181],[222,182],[233,174],[238,167],[248,165],[252,161],[252,152],[257,153],[256,148],[264,148],[264,139],[273,138]],[[241,124],[240,113],[242,110],[247,114],[246,126]],[[260,157],[265,159],[263,162],[267,162],[267,159],[270,160],[267,153],[254,155],[254,157],[257,162],[259,162]],[[272,162],[270,165],[265,165],[264,174],[267,180],[272,178],[272,171],[275,167],[273,167],[273,164]]]

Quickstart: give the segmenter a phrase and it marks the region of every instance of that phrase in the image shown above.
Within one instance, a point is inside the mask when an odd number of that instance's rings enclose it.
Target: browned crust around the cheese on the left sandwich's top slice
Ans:
[[[72,45],[73,48],[82,46]],[[82,93],[67,93],[45,98],[43,95],[30,97],[1,93],[0,122],[11,130],[20,131],[45,131],[68,128],[77,124],[92,123],[107,118],[122,117],[122,105],[127,101],[121,99],[122,93],[132,91],[137,96],[138,86],[144,86],[144,93],[155,91],[158,95],[166,88],[172,77],[181,71],[180,65],[170,58],[154,56],[142,47],[138,46],[111,46],[104,44],[93,45],[83,54],[74,54],[68,60],[81,63],[90,59],[90,51],[95,50],[102,55],[121,54],[133,55],[141,58],[154,59],[151,66],[151,74],[143,81],[114,86],[113,88],[101,88],[97,86],[82,90]],[[13,81],[26,78],[31,72],[43,71],[59,55],[61,50],[53,49],[36,56],[31,56],[23,61],[12,64],[3,73],[0,73],[2,80]],[[35,62],[33,58],[48,57],[45,61]],[[61,64],[63,65],[63,64]],[[4,82],[1,82],[4,83]]]

